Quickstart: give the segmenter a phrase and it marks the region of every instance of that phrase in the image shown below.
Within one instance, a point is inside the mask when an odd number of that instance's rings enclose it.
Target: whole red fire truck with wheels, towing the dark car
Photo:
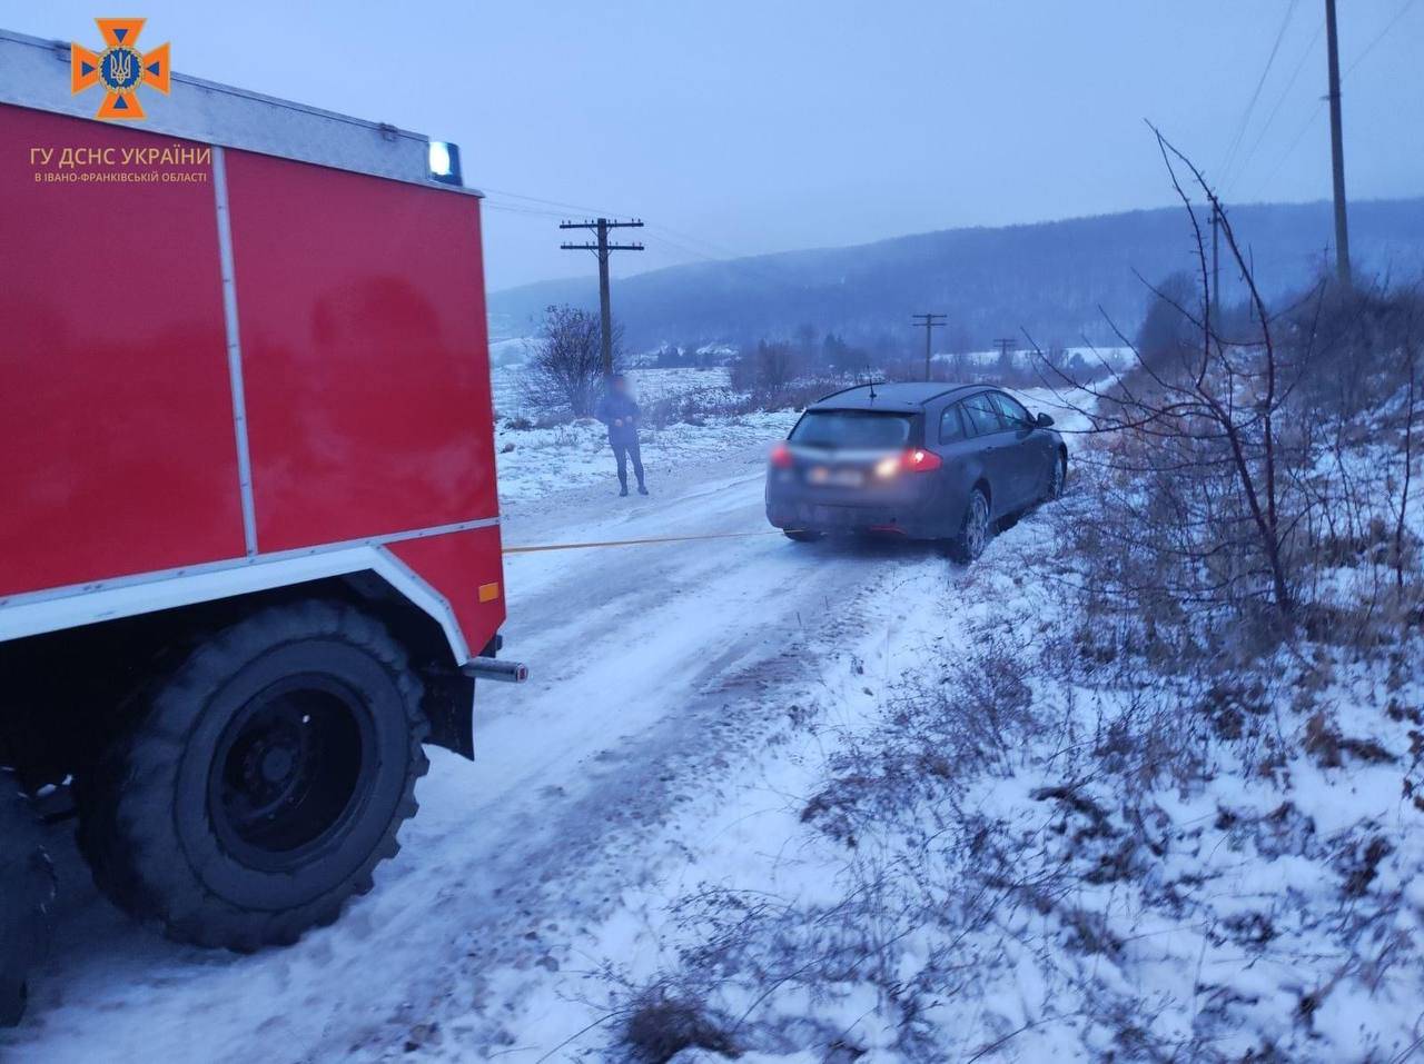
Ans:
[[[172,75],[95,121],[0,33],[0,1011],[73,794],[100,889],[252,950],[473,754],[504,620],[480,196],[454,145]]]

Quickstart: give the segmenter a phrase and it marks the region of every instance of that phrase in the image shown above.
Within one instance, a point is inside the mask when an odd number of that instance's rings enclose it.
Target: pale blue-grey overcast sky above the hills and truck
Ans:
[[[1158,206],[1143,118],[1229,201],[1330,195],[1324,0],[95,1],[0,26],[145,16],[178,71],[459,142],[491,289],[592,270],[560,213],[642,216],[631,273]],[[1349,192],[1421,195],[1424,3],[1340,20]]]

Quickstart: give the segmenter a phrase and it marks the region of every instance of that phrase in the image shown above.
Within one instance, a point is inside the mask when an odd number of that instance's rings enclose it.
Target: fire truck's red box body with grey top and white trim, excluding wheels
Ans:
[[[141,127],[56,114],[56,53],[0,33],[0,640],[365,565],[478,653],[504,617],[478,195],[416,134],[197,78]],[[211,151],[201,182],[37,179],[66,148]]]

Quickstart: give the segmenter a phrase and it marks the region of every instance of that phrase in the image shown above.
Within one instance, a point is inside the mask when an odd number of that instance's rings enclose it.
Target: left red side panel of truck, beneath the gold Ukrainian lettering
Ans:
[[[242,555],[212,185],[30,165],[152,139],[0,105],[0,597]]]

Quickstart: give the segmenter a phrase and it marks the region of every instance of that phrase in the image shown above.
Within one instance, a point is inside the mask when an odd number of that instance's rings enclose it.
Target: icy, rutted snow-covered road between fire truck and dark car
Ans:
[[[648,452],[651,498],[617,498],[609,458],[607,482],[508,509],[506,543],[766,532],[776,435],[676,469]],[[906,592],[964,576],[928,546],[775,533],[510,556],[506,654],[533,679],[480,686],[474,764],[430,751],[372,895],[290,949],[177,946],[98,898],[61,825],[57,942],[0,1057],[397,1058],[439,1024],[446,1058],[567,1058],[558,1024],[521,1024],[520,973],[595,964],[568,943],[698,845],[668,831],[679,804],[755,761],[827,653],[884,640]]]

